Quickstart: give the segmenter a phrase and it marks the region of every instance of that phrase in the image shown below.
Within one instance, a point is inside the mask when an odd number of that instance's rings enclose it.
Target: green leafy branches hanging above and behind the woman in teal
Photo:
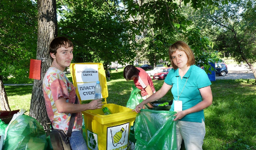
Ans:
[[[133,30],[133,33],[144,38],[145,42],[142,44],[147,45],[146,56],[151,65],[156,64],[161,58],[168,60],[169,46],[175,41],[182,40],[194,51],[196,64],[201,63],[202,66],[206,66],[205,68],[209,68],[208,61],[214,63],[219,60],[218,55],[212,52],[213,42],[201,33],[202,29],[195,26],[187,14],[193,13],[193,9],[195,11],[198,8],[201,10],[208,8],[213,14],[218,10],[220,2],[220,0],[184,0],[185,5],[191,4],[186,12],[181,8],[181,4],[173,1],[125,1],[124,4],[127,5],[128,14],[136,20],[136,30]],[[224,3],[228,2],[235,1],[225,0]]]

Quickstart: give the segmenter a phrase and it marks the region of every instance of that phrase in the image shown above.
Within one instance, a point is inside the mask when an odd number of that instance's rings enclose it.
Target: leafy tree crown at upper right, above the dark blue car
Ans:
[[[223,1],[222,1],[223,2]],[[214,41],[213,49],[222,56],[232,56],[236,62],[255,63],[255,1],[237,0],[221,3],[213,15],[205,9],[195,13],[194,20]]]

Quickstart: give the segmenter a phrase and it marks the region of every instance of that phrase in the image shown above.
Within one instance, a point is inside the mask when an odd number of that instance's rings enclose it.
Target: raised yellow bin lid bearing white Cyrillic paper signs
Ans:
[[[101,98],[108,97],[106,74],[102,63],[70,64],[70,73],[80,101],[94,99],[96,81],[100,81]]]

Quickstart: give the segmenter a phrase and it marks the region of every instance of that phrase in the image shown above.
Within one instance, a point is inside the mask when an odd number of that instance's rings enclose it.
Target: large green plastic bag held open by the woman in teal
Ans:
[[[141,109],[135,122],[135,150],[177,150],[176,112]]]

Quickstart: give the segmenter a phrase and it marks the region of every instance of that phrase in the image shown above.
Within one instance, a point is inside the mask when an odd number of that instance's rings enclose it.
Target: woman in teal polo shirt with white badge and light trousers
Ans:
[[[176,111],[178,150],[182,139],[186,150],[202,150],[205,136],[204,109],[212,104],[211,81],[204,70],[195,64],[195,56],[183,41],[169,48],[172,70],[159,91],[136,106],[140,112],[149,102],[162,98],[171,88],[174,97],[171,111]]]

